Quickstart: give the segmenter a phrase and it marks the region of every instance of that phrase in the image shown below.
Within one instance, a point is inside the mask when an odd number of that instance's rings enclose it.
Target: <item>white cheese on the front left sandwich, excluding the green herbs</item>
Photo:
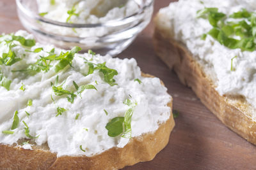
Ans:
[[[19,31],[15,35],[31,39],[33,36],[25,31]],[[0,38],[0,53],[6,51],[5,41],[8,35]],[[117,59],[109,55],[100,56],[84,53],[76,53],[72,60],[72,67],[56,73],[54,67],[57,61],[52,61],[48,72],[40,71],[35,75],[28,75],[26,69],[29,64],[33,64],[40,56],[47,57],[48,52],[54,46],[42,46],[36,43],[31,49],[26,48],[18,41],[14,41],[16,46],[12,47],[17,57],[22,60],[15,62],[12,66],[0,65],[1,73],[12,80],[10,90],[0,86],[0,143],[12,145],[19,139],[28,138],[25,135],[25,125],[29,127],[31,136],[38,136],[34,139],[36,145],[48,144],[51,152],[57,153],[58,157],[63,155],[86,155],[92,156],[104,152],[112,147],[124,147],[129,143],[129,138],[108,136],[106,124],[115,117],[124,117],[129,106],[124,104],[126,99],[136,102],[132,115],[131,129],[132,137],[140,136],[148,132],[154,132],[159,124],[165,122],[170,117],[170,96],[166,88],[161,85],[159,78],[145,78],[141,76],[140,67],[135,59]],[[38,53],[36,48],[43,47],[44,50]],[[55,48],[56,55],[65,52]],[[88,74],[89,66],[84,61],[90,60],[94,64],[106,62],[106,66],[115,69],[118,74],[114,76],[117,85],[109,85],[104,81],[102,73],[95,70]],[[13,72],[13,70],[15,70]],[[76,91],[73,81],[80,87],[81,85],[94,85],[97,89],[85,89],[81,97],[74,98],[74,103],[70,103],[66,96],[56,96],[52,92],[51,82],[56,82],[58,76],[59,84],[62,83],[64,89]],[[141,83],[134,81],[136,78]],[[20,87],[24,87],[24,91]],[[31,99],[32,105],[28,106]],[[52,99],[54,101],[52,101]],[[57,108],[65,108],[61,115],[57,115]],[[4,134],[3,131],[11,131],[13,115],[18,111],[19,125],[12,130],[13,134]],[[106,110],[108,115],[105,113]],[[26,114],[29,113],[29,115]],[[76,119],[77,114],[79,117]],[[80,146],[85,150],[83,152]],[[30,144],[23,146],[31,149]]]

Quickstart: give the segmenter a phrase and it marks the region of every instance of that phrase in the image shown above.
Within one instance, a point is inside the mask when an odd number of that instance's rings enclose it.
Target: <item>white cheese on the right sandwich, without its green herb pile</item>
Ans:
[[[207,18],[196,16],[196,12],[204,8],[218,8],[218,11],[230,16],[243,9],[255,11],[256,2],[180,0],[159,11],[159,22],[170,30],[174,39],[188,47],[204,67],[205,73],[216,80],[216,90],[220,95],[244,96],[256,108],[256,51],[227,48],[209,35],[202,39],[202,35],[212,29]],[[230,69],[231,64],[233,69]],[[252,116],[256,117],[256,114]]]

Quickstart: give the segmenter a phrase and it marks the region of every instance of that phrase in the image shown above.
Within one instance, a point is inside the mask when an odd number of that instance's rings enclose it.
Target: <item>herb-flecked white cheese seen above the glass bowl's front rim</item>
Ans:
[[[45,18],[74,24],[97,24],[128,17],[140,8],[134,0],[36,0]]]

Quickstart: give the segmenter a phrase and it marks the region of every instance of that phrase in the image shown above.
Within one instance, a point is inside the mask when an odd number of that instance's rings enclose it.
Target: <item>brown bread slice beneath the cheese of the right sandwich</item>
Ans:
[[[250,143],[256,145],[256,122],[252,113],[256,112],[242,96],[220,96],[214,88],[214,80],[202,69],[184,44],[175,41],[168,20],[160,13],[155,18],[154,48],[157,55],[173,69],[180,81],[191,87],[202,103],[209,108],[223,124]]]

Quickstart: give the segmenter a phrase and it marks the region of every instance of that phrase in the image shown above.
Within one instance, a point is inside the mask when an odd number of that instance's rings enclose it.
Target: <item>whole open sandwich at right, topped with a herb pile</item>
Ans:
[[[155,18],[157,55],[221,122],[256,145],[256,3],[180,0]]]

